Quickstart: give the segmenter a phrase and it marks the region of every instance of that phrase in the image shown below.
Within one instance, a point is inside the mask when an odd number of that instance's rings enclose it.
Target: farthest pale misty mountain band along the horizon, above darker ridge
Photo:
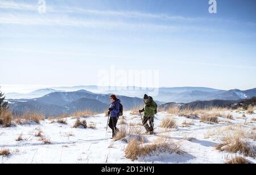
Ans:
[[[43,95],[55,91],[79,91],[87,90],[97,94],[118,94],[126,97],[142,98],[144,94],[150,94],[154,89],[143,89],[142,87],[104,87],[104,86],[73,86],[73,87],[51,87],[51,89],[42,89],[29,94],[6,94],[7,99],[32,99],[43,97]],[[220,100],[238,100],[249,99],[256,96],[256,89],[250,90],[220,90],[208,87],[160,87],[156,89],[157,95],[153,98],[159,102],[189,103],[194,101],[210,101],[213,99]]]

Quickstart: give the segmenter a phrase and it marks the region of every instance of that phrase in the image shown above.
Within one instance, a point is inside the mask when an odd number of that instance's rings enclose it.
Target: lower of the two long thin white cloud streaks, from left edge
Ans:
[[[20,24],[35,26],[71,26],[88,28],[123,28],[123,29],[147,29],[147,30],[168,30],[175,32],[180,30],[208,30],[207,28],[175,25],[175,24],[155,24],[155,23],[136,23],[124,22],[122,20],[94,20],[79,19],[63,16],[41,16],[41,15],[22,15],[20,13],[0,13],[0,24]]]

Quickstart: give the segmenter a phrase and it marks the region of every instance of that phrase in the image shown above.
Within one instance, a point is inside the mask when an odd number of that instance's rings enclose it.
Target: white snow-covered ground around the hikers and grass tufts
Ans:
[[[51,123],[43,120],[40,124],[29,123],[17,125],[16,127],[2,128],[0,126],[0,150],[10,149],[11,155],[0,156],[0,163],[225,163],[238,154],[217,151],[215,146],[221,143],[221,136],[216,134],[221,128],[236,123],[250,130],[255,130],[256,123],[252,120],[256,114],[245,114],[237,111],[226,111],[233,115],[234,119],[219,118],[218,124],[201,123],[199,119],[187,119],[182,116],[173,115],[177,122],[176,129],[163,129],[159,127],[160,122],[166,116],[160,112],[155,117],[155,135],[144,135],[148,143],[159,136],[168,138],[179,144],[185,153],[159,153],[151,156],[141,157],[131,161],[125,157],[126,141],[113,141],[112,132],[108,129],[106,134],[107,117],[98,114],[85,118],[88,125],[96,123],[96,128],[73,128],[76,119],[67,118],[67,124]],[[141,116],[130,115],[130,111],[124,113],[126,123],[141,123]],[[183,122],[192,122],[193,125],[184,126]],[[120,125],[118,127],[121,127]],[[45,138],[51,144],[44,144],[35,134],[42,130]],[[214,133],[214,134],[212,134]],[[26,140],[16,141],[19,135]],[[249,140],[255,146],[255,140]],[[251,163],[256,163],[252,157],[246,157]]]

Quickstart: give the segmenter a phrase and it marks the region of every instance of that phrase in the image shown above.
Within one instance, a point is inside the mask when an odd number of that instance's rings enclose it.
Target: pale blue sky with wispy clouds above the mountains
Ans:
[[[256,2],[0,0],[0,85],[92,85],[159,70],[160,86],[256,87]]]

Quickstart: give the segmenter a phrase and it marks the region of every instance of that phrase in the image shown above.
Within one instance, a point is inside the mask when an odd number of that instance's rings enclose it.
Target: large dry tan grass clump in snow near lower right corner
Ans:
[[[217,145],[217,150],[230,153],[240,152],[245,156],[255,157],[254,151],[251,150],[250,146],[241,139],[226,137],[223,140],[224,143]]]

